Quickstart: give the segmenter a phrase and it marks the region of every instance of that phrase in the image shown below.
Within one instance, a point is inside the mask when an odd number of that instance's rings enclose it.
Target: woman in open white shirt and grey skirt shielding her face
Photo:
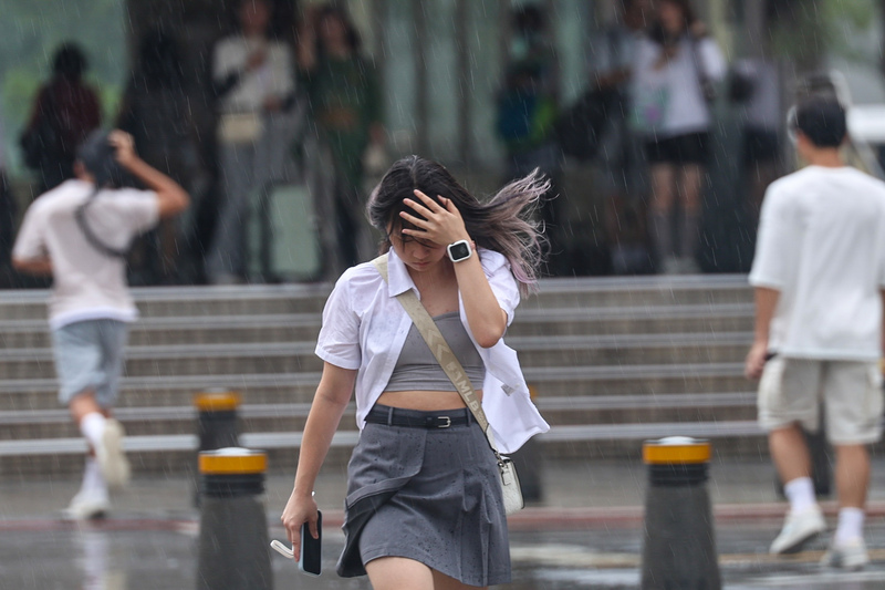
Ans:
[[[387,236],[374,262],[386,261],[388,276],[373,262],[348,269],[323,311],[323,374],[282,515],[295,557],[302,524],[315,536],[313,485],[355,387],[362,432],[347,468],[339,573],[367,573],[375,590],[510,581],[496,456],[396,296],[419,297],[502,452],[546,432],[502,341],[534,283],[542,238],[528,216],[546,189],[532,175],[481,204],[441,165],[410,156],[374,190],[368,215]]]

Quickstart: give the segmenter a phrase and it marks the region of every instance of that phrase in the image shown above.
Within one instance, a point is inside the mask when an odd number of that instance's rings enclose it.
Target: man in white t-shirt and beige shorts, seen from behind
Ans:
[[[747,376],[759,379],[759,422],[790,511],[772,553],[799,550],[825,530],[801,427],[819,427],[836,449],[839,526],[824,563],[868,562],[863,539],[870,483],[866,445],[882,435],[885,184],[844,165],[845,112],[811,97],[791,116],[799,155],[810,166],[766,194],[750,282],[756,338]]]

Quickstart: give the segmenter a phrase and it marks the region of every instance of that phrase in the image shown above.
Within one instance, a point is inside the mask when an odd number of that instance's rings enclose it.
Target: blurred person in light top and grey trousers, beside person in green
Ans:
[[[212,59],[218,100],[221,203],[206,272],[212,283],[246,279],[246,224],[253,195],[282,168],[295,90],[289,46],[269,37],[268,0],[241,0],[240,31],[218,42]]]

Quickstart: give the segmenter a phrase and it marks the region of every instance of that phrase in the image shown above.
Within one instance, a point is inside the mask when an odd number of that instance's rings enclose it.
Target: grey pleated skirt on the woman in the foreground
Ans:
[[[498,465],[472,420],[429,429],[366,424],[347,479],[340,576],[405,557],[468,586],[510,581]]]

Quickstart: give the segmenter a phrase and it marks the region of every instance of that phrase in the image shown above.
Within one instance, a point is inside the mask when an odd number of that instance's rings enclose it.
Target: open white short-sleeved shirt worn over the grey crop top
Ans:
[[[396,296],[413,289],[420,298],[403,261],[393,250],[388,257],[389,283],[372,262],[353,267],[342,275],[326,301],[316,342],[316,355],[323,361],[358,371],[356,423],[360,429],[365,425],[366,414],[384,392],[412,327],[412,318]],[[503,256],[490,250],[480,249],[479,257],[509,324],[520,301],[510,265]],[[478,345],[462,304],[460,314],[486,364],[482,408],[499,449],[512,453],[533,435],[549,431],[550,426],[529,397],[516,351],[503,340],[490,349]]]

